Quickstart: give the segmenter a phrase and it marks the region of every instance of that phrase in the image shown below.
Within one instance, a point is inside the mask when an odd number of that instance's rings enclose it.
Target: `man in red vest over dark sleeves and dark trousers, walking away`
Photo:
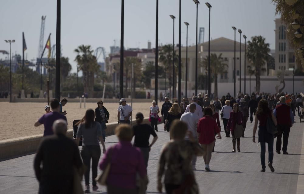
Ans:
[[[292,127],[292,124],[295,119],[293,117],[290,106],[286,104],[286,97],[284,96],[280,97],[280,104],[275,107],[273,114],[275,115],[275,117],[277,117],[277,121],[278,121],[277,128],[279,132],[277,137],[275,152],[277,152],[278,154],[281,153],[282,135],[283,135],[282,151],[283,154],[288,154],[287,152],[288,137],[289,137],[290,128]]]

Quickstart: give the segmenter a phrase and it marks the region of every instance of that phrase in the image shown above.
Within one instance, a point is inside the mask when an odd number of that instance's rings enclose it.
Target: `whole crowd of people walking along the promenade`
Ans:
[[[244,95],[239,93],[234,99],[229,93],[221,99],[211,100],[208,95],[199,94],[191,100],[182,99],[180,104],[164,97],[160,108],[152,101],[149,112],[150,124],[145,124],[142,113],[136,114],[136,124],[131,126],[132,107],[125,98],[119,100],[117,109],[118,126],[115,134],[119,142],[105,148],[106,123],[110,114],[99,100],[95,111],[88,109],[78,126],[74,142],[65,136],[67,131],[67,111],[62,107],[67,99],[53,99],[45,106],[46,113],[34,126],[44,125],[43,136],[34,161],[36,177],[40,183],[40,193],[73,193],[75,177],[85,177],[85,193],[90,192],[90,170],[92,170],[92,190],[97,191],[98,166],[106,174],[107,192],[145,193],[147,189],[147,168],[149,152],[157,141],[158,124],[163,119],[164,131],[170,133],[170,140],[164,144],[157,169],[157,189],[167,193],[199,193],[193,170],[196,170],[197,156],[203,156],[205,170],[211,171],[212,152],[216,149],[216,139],[232,136],[232,152],[240,152],[240,139],[244,138],[246,123],[254,121],[252,141],[261,144],[261,172],[266,171],[265,143],[268,143],[268,167],[273,164],[273,144],[277,138],[275,151],[288,154],[288,136],[294,121],[295,111],[301,115],[302,97],[299,95],[267,93]],[[160,116],[158,114],[161,114]],[[253,115],[254,120],[253,120]],[[220,119],[223,120],[223,128]],[[275,133],[269,131],[269,123],[275,126]],[[149,142],[150,136],[153,136]],[[132,139],[134,142],[132,143]],[[81,151],[78,150],[82,140]],[[76,142],[76,143],[75,143]],[[102,150],[100,147],[102,145]],[[62,149],[62,148],[68,149]],[[98,161],[102,156],[101,162]],[[60,159],[59,159],[60,158]],[[41,166],[43,164],[43,166]],[[109,169],[109,170],[107,170]],[[164,175],[164,182],[162,176]],[[59,178],[58,178],[59,177]],[[146,181],[143,181],[146,180]],[[78,182],[80,184],[80,181]],[[139,192],[140,191],[140,192]]]

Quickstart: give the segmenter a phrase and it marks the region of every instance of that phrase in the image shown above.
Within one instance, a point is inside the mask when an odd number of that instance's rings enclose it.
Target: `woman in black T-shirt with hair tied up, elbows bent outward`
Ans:
[[[148,124],[143,124],[143,114],[137,113],[136,114],[136,125],[133,126],[133,135],[134,144],[133,146],[140,148],[141,153],[143,154],[143,159],[148,167],[148,160],[149,160],[149,152],[151,150],[152,145],[157,140],[157,134],[155,133],[154,129],[151,128]],[[151,144],[149,144],[150,135],[153,135],[153,140]]]

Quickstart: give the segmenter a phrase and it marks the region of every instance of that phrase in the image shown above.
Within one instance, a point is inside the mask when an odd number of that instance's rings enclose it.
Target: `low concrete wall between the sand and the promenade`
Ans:
[[[148,118],[145,118],[143,123],[150,123]],[[132,124],[136,124],[135,120]],[[106,136],[113,135],[117,122],[107,124],[105,131]],[[67,136],[73,138],[73,129],[67,130]],[[0,141],[0,161],[9,158],[16,158],[21,155],[32,154],[37,151],[37,148],[43,139],[43,134],[31,135],[15,139],[7,139]]]

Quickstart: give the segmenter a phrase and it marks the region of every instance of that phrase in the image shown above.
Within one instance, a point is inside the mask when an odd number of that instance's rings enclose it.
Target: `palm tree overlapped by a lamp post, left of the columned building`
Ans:
[[[171,44],[162,46],[158,52],[159,62],[161,62],[164,66],[165,85],[167,85],[167,77],[168,77],[170,86],[172,86],[172,63],[173,63],[172,54],[173,54],[173,47]],[[175,75],[177,75],[177,70],[178,70],[177,65],[178,65],[178,55],[174,54]],[[171,87],[169,88],[171,94]]]

